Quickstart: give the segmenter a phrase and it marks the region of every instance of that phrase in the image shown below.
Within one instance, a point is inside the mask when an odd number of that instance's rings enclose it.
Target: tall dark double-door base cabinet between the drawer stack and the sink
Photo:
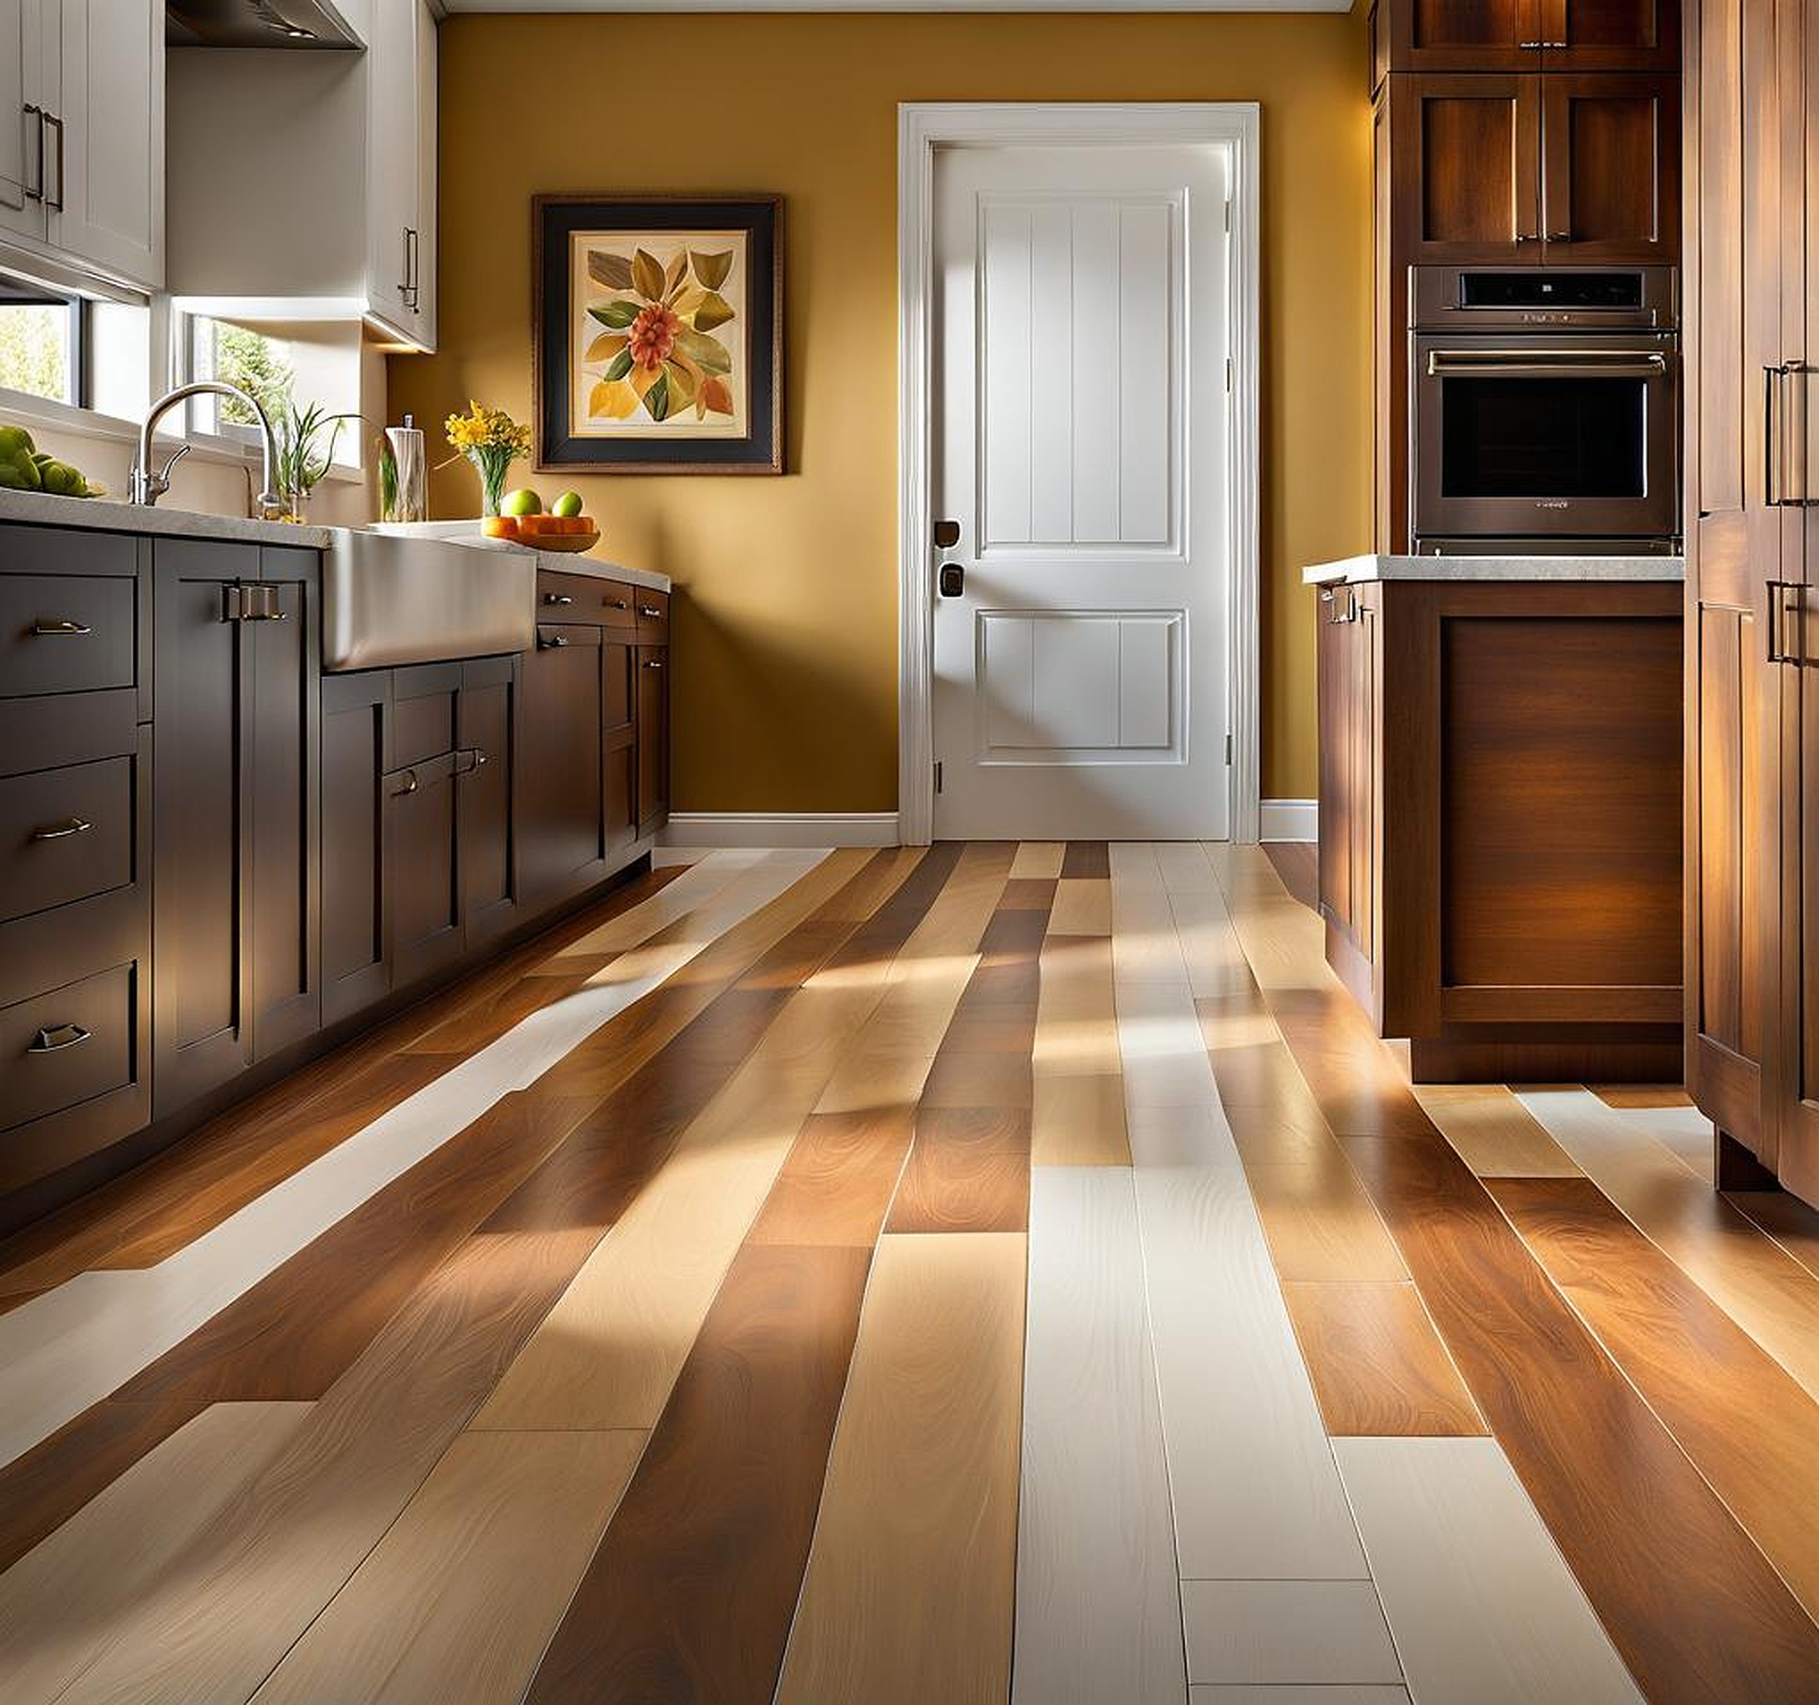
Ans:
[[[153,544],[153,1106],[311,1035],[318,981],[313,551]]]

